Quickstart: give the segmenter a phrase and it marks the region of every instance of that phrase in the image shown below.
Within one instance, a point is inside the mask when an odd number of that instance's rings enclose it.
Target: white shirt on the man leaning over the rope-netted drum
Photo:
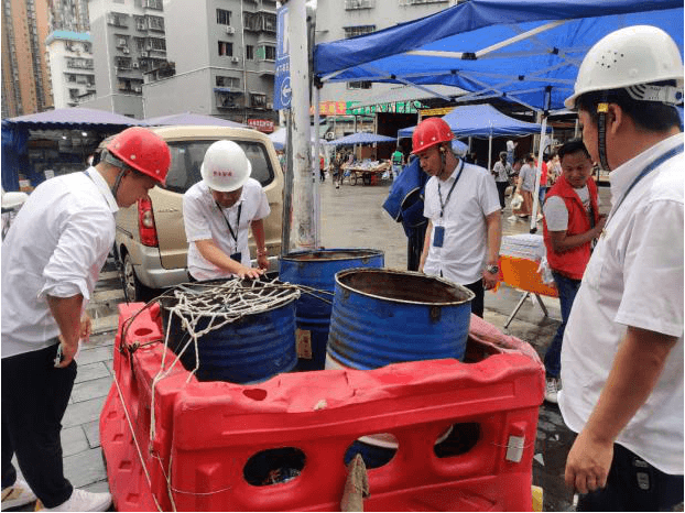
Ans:
[[[241,207],[242,206],[242,207]],[[238,226],[238,210],[240,225]],[[254,178],[248,178],[242,186],[242,194],[236,205],[219,208],[211,197],[211,190],[204,182],[198,182],[183,196],[183,222],[188,241],[188,271],[195,280],[214,280],[229,277],[231,273],[217,268],[205,259],[195,241],[214,239],[217,247],[227,255],[242,253],[241,264],[250,266],[250,249],[248,245],[249,228],[252,221],[264,219],[271,214],[267,193]],[[236,241],[228,229],[236,232]]]

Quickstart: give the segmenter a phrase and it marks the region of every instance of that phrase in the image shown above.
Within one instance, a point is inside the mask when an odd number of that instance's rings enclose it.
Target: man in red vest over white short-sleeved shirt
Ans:
[[[566,320],[590,260],[591,243],[601,233],[606,220],[599,215],[597,185],[590,178],[592,161],[583,141],[568,141],[558,155],[562,176],[547,193],[543,220],[547,262],[562,304],[562,324],[545,353],[545,400],[551,403],[556,403],[559,390]]]

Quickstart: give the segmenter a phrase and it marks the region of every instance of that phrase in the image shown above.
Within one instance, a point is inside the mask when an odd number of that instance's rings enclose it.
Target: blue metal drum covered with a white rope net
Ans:
[[[164,298],[167,305],[173,298]],[[162,303],[163,329],[166,330],[168,310]],[[221,319],[217,318],[217,325]],[[205,329],[211,321],[200,316],[196,331]],[[170,329],[170,348],[178,353],[189,341],[181,356],[187,370],[196,364],[195,345],[180,319],[173,315]],[[295,299],[257,314],[246,315],[239,320],[209,331],[198,338],[198,381],[228,381],[250,384],[267,381],[282,372],[290,372],[297,363],[295,351]]]

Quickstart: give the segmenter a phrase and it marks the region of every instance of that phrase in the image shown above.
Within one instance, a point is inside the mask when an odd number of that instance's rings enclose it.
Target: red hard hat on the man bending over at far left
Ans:
[[[129,167],[164,185],[171,152],[157,134],[141,127],[131,127],[115,135],[107,144],[107,151]]]

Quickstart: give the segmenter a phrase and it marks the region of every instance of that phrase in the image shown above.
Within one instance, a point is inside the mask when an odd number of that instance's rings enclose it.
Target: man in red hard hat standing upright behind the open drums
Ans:
[[[485,291],[499,275],[500,200],[492,176],[452,151],[454,134],[442,118],[425,119],[412,135],[413,153],[431,175],[425,187],[428,219],[420,272],[444,276],[476,294],[471,312],[482,317]]]

